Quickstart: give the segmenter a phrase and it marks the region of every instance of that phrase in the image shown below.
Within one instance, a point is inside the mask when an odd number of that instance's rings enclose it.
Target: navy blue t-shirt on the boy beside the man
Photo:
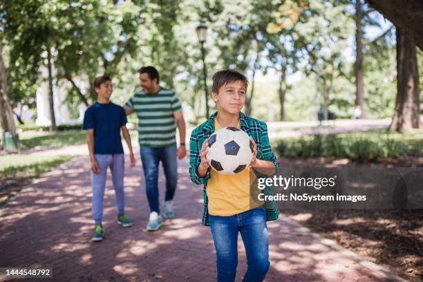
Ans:
[[[124,153],[120,127],[126,124],[122,106],[95,102],[85,111],[83,129],[94,129],[94,153]]]

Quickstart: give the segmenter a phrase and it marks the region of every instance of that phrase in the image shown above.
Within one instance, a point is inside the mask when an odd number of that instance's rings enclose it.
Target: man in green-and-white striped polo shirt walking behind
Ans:
[[[158,193],[158,164],[162,161],[166,177],[166,196],[164,198],[164,218],[173,218],[173,196],[178,182],[178,162],[187,155],[185,149],[185,121],[176,94],[159,86],[159,74],[153,66],[140,68],[142,90],[124,105],[126,115],[135,112],[138,116],[138,140],[142,168],[146,182],[147,199],[150,206],[148,231],[162,227]],[[180,144],[176,148],[176,127],[178,126]]]

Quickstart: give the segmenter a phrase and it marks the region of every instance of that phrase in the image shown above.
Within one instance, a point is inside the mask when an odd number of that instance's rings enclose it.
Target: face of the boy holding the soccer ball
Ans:
[[[218,111],[236,114],[243,109],[246,92],[244,82],[236,80],[220,86],[218,93],[212,92],[212,98]]]

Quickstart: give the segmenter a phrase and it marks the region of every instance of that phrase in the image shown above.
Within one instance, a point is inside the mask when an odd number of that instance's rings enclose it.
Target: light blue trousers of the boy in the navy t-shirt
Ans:
[[[93,219],[96,224],[102,223],[103,217],[103,198],[104,188],[106,187],[107,168],[110,167],[113,188],[115,189],[116,207],[118,214],[124,213],[124,154],[115,153],[114,155],[95,154],[100,173],[91,171],[91,184],[93,185]]]

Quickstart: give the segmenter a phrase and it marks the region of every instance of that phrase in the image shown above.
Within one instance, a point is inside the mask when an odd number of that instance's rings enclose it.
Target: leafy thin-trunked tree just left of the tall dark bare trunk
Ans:
[[[306,2],[307,3],[307,2]],[[322,96],[322,110],[328,119],[331,92],[337,77],[346,77],[344,50],[347,37],[353,33],[353,22],[344,13],[339,1],[309,1],[302,19],[295,25],[295,48],[301,52],[306,74],[314,74]]]

